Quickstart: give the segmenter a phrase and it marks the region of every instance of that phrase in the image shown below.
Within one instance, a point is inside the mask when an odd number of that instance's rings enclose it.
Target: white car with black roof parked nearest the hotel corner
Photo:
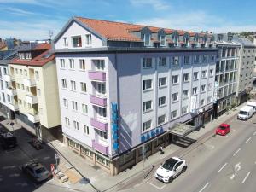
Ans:
[[[161,165],[154,177],[164,183],[171,183],[173,178],[177,177],[180,173],[185,172],[187,169],[186,161],[179,157],[172,157]]]

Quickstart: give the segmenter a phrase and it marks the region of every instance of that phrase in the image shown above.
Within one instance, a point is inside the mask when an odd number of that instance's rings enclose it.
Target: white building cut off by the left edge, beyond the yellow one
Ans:
[[[6,117],[9,116],[9,81],[8,81],[8,63],[15,58],[17,50],[5,50],[0,52],[0,111]]]

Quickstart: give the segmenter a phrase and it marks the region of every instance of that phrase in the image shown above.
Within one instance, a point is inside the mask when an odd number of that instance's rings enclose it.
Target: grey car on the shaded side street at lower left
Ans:
[[[22,172],[26,173],[28,177],[31,177],[35,183],[41,183],[52,177],[45,166],[38,162],[30,162],[21,166]]]

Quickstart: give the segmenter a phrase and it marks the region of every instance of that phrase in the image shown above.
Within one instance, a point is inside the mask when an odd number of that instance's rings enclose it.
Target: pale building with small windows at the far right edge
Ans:
[[[247,101],[248,94],[253,89],[256,46],[247,38],[235,37],[234,41],[241,44],[236,84],[237,104],[241,104]]]

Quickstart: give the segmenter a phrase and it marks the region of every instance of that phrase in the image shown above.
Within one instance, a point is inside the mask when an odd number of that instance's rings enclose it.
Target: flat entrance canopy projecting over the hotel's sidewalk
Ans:
[[[169,131],[173,135],[177,135],[179,137],[185,137],[190,132],[195,131],[195,126],[177,123],[174,127],[170,127],[167,131]]]

